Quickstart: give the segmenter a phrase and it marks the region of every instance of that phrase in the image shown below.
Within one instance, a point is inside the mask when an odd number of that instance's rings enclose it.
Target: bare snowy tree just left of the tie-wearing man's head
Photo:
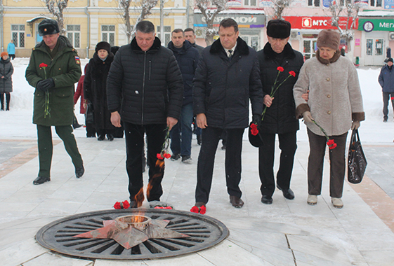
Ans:
[[[214,42],[214,36],[216,34],[214,20],[218,13],[225,10],[227,2],[228,0],[196,0],[196,6],[201,11],[202,15],[204,15],[206,22],[206,45],[211,45]],[[216,9],[211,9],[212,6],[216,6]]]

